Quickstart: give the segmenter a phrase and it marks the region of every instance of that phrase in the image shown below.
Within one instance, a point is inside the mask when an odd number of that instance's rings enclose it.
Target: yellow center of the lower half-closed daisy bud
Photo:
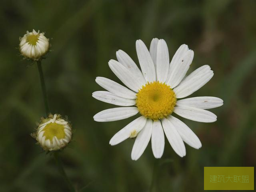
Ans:
[[[58,139],[63,139],[65,137],[65,132],[64,132],[64,125],[60,125],[57,123],[49,123],[47,124],[44,129],[44,135],[45,140],[49,139],[52,141],[52,138],[56,136]]]

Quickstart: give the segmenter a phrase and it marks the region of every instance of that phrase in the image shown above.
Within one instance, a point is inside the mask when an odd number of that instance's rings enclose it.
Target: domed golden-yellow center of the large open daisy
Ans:
[[[136,106],[140,114],[154,121],[170,115],[175,104],[175,93],[165,83],[148,83],[137,93]]]

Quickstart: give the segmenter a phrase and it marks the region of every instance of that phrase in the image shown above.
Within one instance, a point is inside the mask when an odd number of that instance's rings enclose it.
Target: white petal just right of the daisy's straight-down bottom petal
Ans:
[[[173,150],[181,157],[186,155],[186,148],[180,134],[175,129],[174,125],[166,118],[162,119],[164,133]]]

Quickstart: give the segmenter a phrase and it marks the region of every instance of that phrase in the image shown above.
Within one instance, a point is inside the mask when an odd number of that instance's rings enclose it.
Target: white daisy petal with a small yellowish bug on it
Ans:
[[[146,120],[147,119],[144,116],[140,116],[139,118],[130,122],[110,139],[109,144],[116,145],[129,138],[131,134],[134,134],[134,132],[138,134],[140,130],[142,130],[142,128],[145,126]]]

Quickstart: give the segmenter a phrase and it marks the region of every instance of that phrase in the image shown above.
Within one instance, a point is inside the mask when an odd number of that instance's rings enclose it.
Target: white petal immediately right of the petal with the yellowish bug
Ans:
[[[147,119],[144,128],[138,133],[132,148],[132,160],[138,160],[146,149],[152,134],[153,122]]]

